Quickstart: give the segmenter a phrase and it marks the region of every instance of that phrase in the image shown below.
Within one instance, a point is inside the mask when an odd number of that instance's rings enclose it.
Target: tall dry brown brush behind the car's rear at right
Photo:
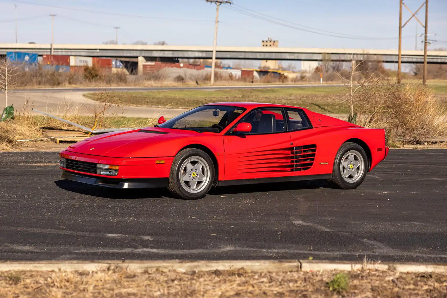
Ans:
[[[420,144],[447,135],[447,113],[430,88],[380,79],[355,94],[357,124],[384,128],[388,144]]]

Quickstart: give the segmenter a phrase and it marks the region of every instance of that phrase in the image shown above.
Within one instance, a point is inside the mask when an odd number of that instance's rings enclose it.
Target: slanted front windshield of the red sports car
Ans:
[[[244,111],[244,108],[228,105],[202,105],[160,124],[159,127],[219,133]]]

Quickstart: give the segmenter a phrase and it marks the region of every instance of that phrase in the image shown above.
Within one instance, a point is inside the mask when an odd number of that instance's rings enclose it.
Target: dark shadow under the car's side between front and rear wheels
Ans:
[[[321,189],[321,188],[330,188],[326,180],[221,186],[221,187],[213,187],[209,191],[209,194],[220,195],[220,194],[231,194],[231,193],[262,193],[262,192],[281,191],[281,190]]]

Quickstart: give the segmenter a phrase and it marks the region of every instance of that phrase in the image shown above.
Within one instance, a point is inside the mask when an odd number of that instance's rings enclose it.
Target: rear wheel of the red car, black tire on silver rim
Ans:
[[[353,156],[354,160],[351,162],[349,160],[344,160],[346,155]],[[355,160],[357,158],[357,160]],[[363,159],[363,160],[360,160]],[[342,175],[342,171],[346,169],[346,167],[343,166],[342,162],[350,163],[352,164],[352,167],[348,166],[348,171],[346,172],[349,175],[349,171],[351,171],[352,174],[350,176],[345,177],[345,175]],[[356,162],[361,162],[362,167],[357,167],[354,165]],[[332,170],[332,179],[328,179],[328,182],[330,185],[332,185],[335,188],[339,189],[356,189],[358,186],[360,186],[365,180],[366,174],[368,172],[368,158],[365,153],[365,150],[363,148],[356,144],[356,143],[344,143],[340,149],[337,151],[337,155],[335,155],[333,170]],[[355,177],[354,177],[355,175]],[[351,177],[351,178],[349,178]]]

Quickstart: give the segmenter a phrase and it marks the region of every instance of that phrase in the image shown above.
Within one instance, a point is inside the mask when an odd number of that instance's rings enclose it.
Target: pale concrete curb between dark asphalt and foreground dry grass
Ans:
[[[221,261],[2,261],[0,271],[98,271],[110,266],[120,266],[133,271],[143,270],[179,270],[211,271],[246,269],[249,271],[351,271],[363,268],[373,270],[391,270],[396,272],[434,272],[447,273],[447,264],[384,262],[350,262],[319,260],[221,260]]]

